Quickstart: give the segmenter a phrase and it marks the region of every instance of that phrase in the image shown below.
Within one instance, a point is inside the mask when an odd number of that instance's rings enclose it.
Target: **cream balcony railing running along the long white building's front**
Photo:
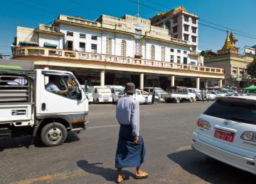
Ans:
[[[213,74],[224,74],[224,69],[215,67],[202,67],[190,64],[178,64],[174,62],[161,62],[150,59],[137,59],[132,57],[113,56],[90,52],[78,52],[71,50],[58,50],[46,47],[21,47],[16,48],[15,57],[36,55],[42,57],[58,57],[65,59],[80,59],[100,62],[113,62],[120,64],[142,65],[146,67],[161,67],[167,69],[182,69],[186,71],[200,71]]]

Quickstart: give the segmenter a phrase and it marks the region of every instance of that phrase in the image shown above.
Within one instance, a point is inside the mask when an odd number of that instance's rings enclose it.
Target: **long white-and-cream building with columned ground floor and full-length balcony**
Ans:
[[[223,69],[203,67],[203,58],[192,47],[136,16],[102,15],[89,21],[60,15],[51,25],[17,27],[12,50],[14,59],[33,60],[37,68],[73,71],[92,85],[133,81],[139,88],[200,88],[206,79],[221,81]]]

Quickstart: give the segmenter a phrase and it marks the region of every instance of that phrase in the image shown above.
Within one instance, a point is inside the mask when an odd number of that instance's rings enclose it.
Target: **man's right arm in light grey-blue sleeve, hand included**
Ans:
[[[134,103],[131,112],[132,136],[137,137],[139,142],[139,102]],[[138,143],[137,142],[137,143]]]

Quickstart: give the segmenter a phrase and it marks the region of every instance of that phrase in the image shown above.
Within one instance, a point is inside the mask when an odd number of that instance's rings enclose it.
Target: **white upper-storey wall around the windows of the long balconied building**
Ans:
[[[67,36],[67,31],[73,32],[73,37]],[[54,35],[40,35],[39,45],[43,47],[44,42],[50,42],[58,45],[58,48],[65,49],[63,45],[67,40],[73,41],[73,49],[79,50],[79,42],[85,42],[85,52],[92,52],[91,44],[97,44],[97,53],[107,54],[107,38],[112,38],[112,55],[121,55],[121,42],[125,40],[127,43],[126,57],[134,57],[135,53],[135,40],[132,35],[122,35],[119,33],[102,32],[98,30],[90,30],[88,28],[77,28],[71,25],[60,24],[60,32],[64,33],[64,37]],[[86,38],[80,38],[80,33],[86,35]],[[92,40],[91,36],[97,35],[97,40]],[[62,39],[63,38],[63,39]],[[181,57],[181,64],[183,64],[183,57],[187,57],[187,62],[198,61],[196,59],[190,59],[188,54],[190,52],[189,47],[183,47],[179,45],[171,45],[164,42],[158,42],[153,40],[142,40],[142,58],[151,59],[151,45],[155,46],[155,60],[161,61],[161,47],[166,48],[165,61],[171,62],[171,55],[174,55],[174,62],[177,62],[177,57]],[[171,48],[174,52],[171,52]],[[181,50],[178,53],[177,50]],[[186,51],[186,54],[183,52]]]

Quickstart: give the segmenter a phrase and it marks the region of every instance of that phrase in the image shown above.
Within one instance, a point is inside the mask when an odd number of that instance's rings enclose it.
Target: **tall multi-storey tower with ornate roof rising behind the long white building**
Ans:
[[[152,25],[169,29],[172,37],[191,42],[193,50],[198,49],[198,16],[183,6],[158,13],[150,20]]]

